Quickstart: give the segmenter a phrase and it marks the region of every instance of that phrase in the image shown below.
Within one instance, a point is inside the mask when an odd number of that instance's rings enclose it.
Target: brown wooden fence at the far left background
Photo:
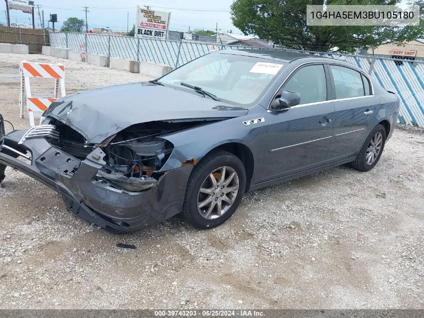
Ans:
[[[43,45],[49,45],[49,32],[0,26],[0,43],[26,44],[30,53],[41,53]]]

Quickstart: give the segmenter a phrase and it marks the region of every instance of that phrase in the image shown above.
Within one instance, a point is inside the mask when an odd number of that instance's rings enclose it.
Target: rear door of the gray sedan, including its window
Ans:
[[[380,109],[367,76],[344,65],[329,64],[335,93],[334,137],[327,162],[355,156],[368,136]]]

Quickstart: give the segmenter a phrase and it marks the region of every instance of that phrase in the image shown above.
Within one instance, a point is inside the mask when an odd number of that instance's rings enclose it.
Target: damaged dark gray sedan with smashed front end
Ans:
[[[16,168],[113,233],[179,213],[208,229],[246,191],[345,163],[372,169],[398,111],[393,93],[349,63],[220,51],[151,82],[53,102],[40,126],[2,136],[0,182]]]

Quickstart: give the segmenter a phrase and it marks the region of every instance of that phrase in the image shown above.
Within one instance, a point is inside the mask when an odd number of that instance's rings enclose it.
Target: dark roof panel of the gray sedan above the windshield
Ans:
[[[294,60],[300,58],[312,58],[317,61],[323,60],[328,61],[332,60],[327,57],[317,56],[308,53],[298,53],[298,52],[290,52],[285,50],[268,50],[268,49],[240,49],[240,50],[220,50],[214,52],[215,54],[232,54],[232,55],[244,55],[244,56],[252,56],[257,58],[264,58],[268,60],[276,60],[281,62],[290,63]]]

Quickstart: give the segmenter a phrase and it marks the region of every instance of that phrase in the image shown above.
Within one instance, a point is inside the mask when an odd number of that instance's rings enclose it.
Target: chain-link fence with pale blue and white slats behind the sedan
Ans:
[[[50,45],[108,57],[166,64],[171,67],[187,63],[213,50],[245,48],[242,46],[201,42],[164,41],[69,32],[50,33]],[[305,53],[305,51],[289,51]],[[399,60],[369,55],[325,52],[307,53],[344,60],[363,69],[378,81],[384,89],[393,91],[400,97],[398,120],[402,125],[424,128],[423,61]]]

